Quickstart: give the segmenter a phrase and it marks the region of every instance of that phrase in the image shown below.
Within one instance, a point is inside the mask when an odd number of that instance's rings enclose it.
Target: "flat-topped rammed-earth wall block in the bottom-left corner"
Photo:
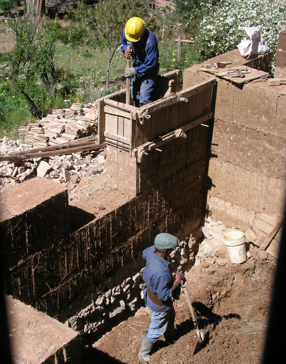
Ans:
[[[11,296],[5,306],[13,363],[82,362],[79,333]]]

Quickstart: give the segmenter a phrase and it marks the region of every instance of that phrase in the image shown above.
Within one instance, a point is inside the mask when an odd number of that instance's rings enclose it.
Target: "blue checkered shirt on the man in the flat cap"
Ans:
[[[155,254],[155,245],[143,250],[143,258],[146,259],[146,268],[143,270],[143,280],[151,292],[158,295],[159,300],[166,301],[172,297],[174,283],[171,263]],[[153,303],[147,294],[147,288],[143,290],[145,303],[150,310],[155,312],[167,311],[170,307],[158,306]],[[163,302],[164,303],[164,302]]]

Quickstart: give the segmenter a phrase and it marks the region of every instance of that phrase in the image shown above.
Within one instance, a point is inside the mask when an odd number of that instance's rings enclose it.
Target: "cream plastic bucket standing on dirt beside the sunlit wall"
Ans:
[[[227,254],[231,263],[239,264],[246,261],[245,236],[241,231],[231,231],[223,237]]]

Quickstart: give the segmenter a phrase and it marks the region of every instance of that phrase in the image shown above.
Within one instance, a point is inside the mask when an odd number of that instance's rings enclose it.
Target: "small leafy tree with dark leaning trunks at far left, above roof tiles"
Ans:
[[[41,32],[35,12],[26,13],[23,17],[14,15],[9,26],[15,32],[16,45],[9,54],[11,69],[6,72],[6,79],[13,92],[20,92],[35,115],[41,118],[45,100],[49,97],[52,102],[56,98],[53,63],[55,27]]]

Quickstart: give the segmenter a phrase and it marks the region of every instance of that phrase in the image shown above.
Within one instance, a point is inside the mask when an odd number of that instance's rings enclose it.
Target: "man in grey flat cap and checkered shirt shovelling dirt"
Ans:
[[[152,346],[161,335],[167,341],[175,339],[175,310],[173,307],[173,292],[184,278],[183,272],[172,277],[169,255],[180,241],[173,235],[162,233],[155,238],[154,245],[143,250],[146,268],[143,280],[147,287],[143,290],[146,306],[151,310],[151,325],[145,332],[138,358],[145,364],[150,358]]]

